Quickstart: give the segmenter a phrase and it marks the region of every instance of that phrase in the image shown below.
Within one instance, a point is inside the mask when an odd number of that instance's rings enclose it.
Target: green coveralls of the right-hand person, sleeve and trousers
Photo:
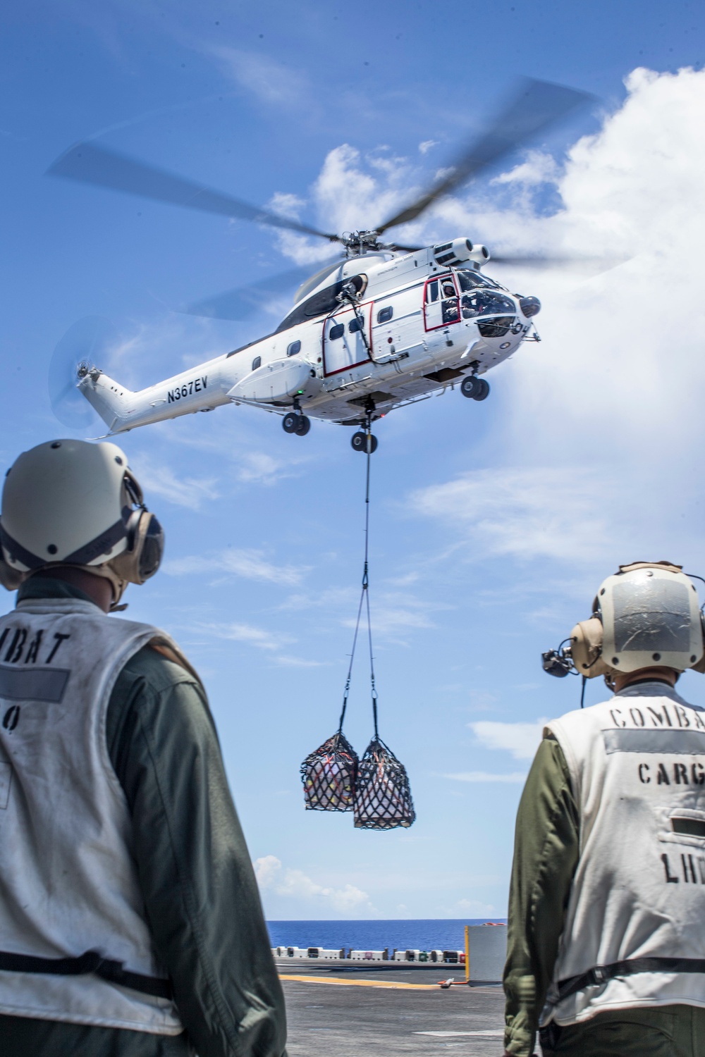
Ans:
[[[517,813],[509,887],[504,1047],[534,1052],[579,854],[578,810],[562,749],[539,745]],[[571,1057],[705,1057],[705,1009],[690,1005],[598,1013],[541,1032],[544,1054]]]

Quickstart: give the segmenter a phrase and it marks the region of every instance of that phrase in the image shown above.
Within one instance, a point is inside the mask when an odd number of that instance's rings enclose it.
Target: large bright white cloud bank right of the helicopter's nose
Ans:
[[[542,341],[489,376],[502,402],[493,468],[410,497],[471,542],[466,557],[600,568],[637,554],[698,558],[705,73],[636,70],[626,86],[624,104],[564,160],[528,153],[424,221],[429,239],[468,231],[490,249],[623,260],[588,274],[488,264],[540,296]],[[550,187],[557,207],[534,205],[527,186]]]

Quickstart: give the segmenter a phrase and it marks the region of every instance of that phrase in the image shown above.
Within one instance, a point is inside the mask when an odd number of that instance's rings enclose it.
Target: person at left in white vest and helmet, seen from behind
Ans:
[[[0,1053],[281,1057],[281,987],[205,690],[108,615],[164,535],[114,444],[2,494]]]

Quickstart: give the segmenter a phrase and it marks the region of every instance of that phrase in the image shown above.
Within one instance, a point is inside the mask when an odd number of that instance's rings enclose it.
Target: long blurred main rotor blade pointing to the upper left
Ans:
[[[340,241],[337,235],[318,231],[315,227],[299,224],[296,220],[289,220],[287,217],[280,217],[276,212],[249,205],[230,194],[211,190],[194,181],[175,177],[164,169],[145,165],[144,162],[137,162],[106,147],[98,147],[94,143],[74,144],[50,165],[47,174],[96,184],[98,187],[110,187],[126,194],[137,194],[141,198],[167,202],[185,209],[200,209],[202,212],[216,212],[222,217],[253,220],[257,224],[284,227],[290,231],[301,231],[303,235],[316,235],[331,242]]]

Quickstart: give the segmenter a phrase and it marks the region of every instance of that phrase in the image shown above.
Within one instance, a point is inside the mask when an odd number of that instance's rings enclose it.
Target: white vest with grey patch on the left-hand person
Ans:
[[[51,960],[98,951],[159,990],[166,973],[106,744],[115,680],[155,636],[167,638],[77,599],[26,600],[0,618],[0,950]],[[0,1014],[183,1031],[168,998],[95,972],[0,969]]]

